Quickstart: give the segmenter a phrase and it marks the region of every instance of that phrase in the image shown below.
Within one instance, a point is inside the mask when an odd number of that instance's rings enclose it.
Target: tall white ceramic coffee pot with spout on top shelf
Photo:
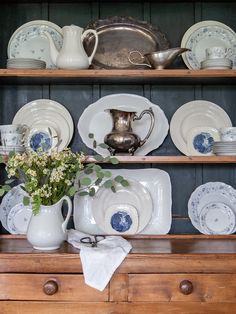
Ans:
[[[94,29],[87,29],[70,25],[62,28],[63,44],[60,51],[57,50],[51,35],[45,32],[50,44],[50,56],[52,62],[61,69],[87,69],[94,57],[98,45],[98,35]],[[95,44],[91,55],[88,57],[83,47],[83,40],[92,33]]]

